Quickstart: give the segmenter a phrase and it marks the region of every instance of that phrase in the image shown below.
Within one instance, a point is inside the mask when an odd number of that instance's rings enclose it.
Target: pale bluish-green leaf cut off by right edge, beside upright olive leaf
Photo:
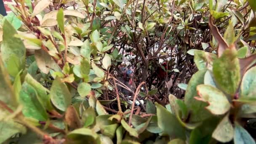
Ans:
[[[252,67],[243,76],[241,83],[241,96],[249,96],[252,93],[256,92],[256,67]],[[255,96],[253,96],[255,97]]]

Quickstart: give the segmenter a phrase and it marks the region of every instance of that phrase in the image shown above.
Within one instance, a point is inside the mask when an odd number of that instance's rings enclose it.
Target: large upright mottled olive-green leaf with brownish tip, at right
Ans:
[[[228,94],[234,95],[240,82],[240,65],[236,51],[227,49],[213,63],[216,84]]]

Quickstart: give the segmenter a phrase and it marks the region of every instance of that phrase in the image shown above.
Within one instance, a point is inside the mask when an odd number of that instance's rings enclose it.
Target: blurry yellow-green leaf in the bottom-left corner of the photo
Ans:
[[[25,134],[27,129],[25,126],[16,123],[12,120],[0,121],[0,143],[3,144],[7,139],[16,133]]]

